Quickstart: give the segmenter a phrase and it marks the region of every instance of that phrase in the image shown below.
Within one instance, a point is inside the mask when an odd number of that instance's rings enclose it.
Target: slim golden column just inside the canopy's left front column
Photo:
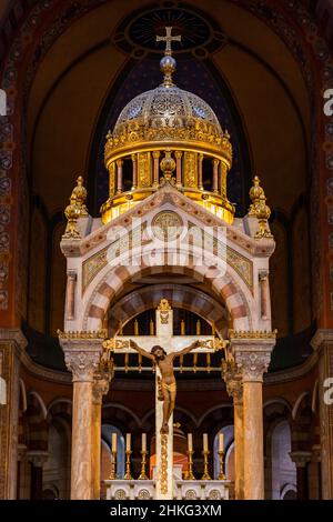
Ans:
[[[100,373],[95,375],[92,388],[92,478],[93,498],[100,499],[101,494],[101,426],[102,426],[102,399],[109,391],[109,378]]]

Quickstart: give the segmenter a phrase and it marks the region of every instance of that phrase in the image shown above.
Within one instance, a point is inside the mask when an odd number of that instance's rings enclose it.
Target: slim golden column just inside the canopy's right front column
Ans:
[[[244,499],[244,426],[243,426],[243,383],[242,374],[235,363],[223,364],[223,379],[226,391],[233,398],[234,418],[234,468],[235,468],[235,499]]]

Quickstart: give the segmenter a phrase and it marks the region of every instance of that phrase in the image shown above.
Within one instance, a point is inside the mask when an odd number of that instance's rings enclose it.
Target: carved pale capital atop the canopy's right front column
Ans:
[[[230,332],[231,347],[236,367],[242,372],[243,382],[262,382],[268,371],[275,345],[273,332]]]

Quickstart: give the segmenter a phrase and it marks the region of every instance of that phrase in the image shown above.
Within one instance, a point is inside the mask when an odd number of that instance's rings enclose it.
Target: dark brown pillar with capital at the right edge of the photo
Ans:
[[[317,330],[311,344],[319,354],[319,411],[322,499],[333,499],[333,330]],[[330,391],[332,390],[332,391]]]

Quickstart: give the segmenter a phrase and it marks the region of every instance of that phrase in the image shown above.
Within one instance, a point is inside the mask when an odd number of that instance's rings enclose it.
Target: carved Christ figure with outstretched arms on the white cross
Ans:
[[[195,348],[200,347],[200,341],[194,341],[186,348],[176,352],[167,353],[165,350],[155,344],[150,352],[139,347],[135,341],[130,340],[130,347],[137,350],[141,355],[155,361],[161,378],[159,378],[159,400],[163,401],[163,421],[161,426],[161,433],[169,433],[169,419],[172,415],[176,395],[176,382],[173,373],[173,361],[178,357],[183,357],[190,353]]]

